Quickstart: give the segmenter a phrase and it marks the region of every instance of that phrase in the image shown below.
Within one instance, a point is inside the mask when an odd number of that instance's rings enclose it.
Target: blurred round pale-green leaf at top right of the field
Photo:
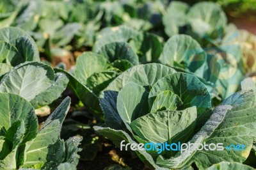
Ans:
[[[196,3],[189,9],[188,17],[193,31],[200,36],[204,36],[205,33],[211,35],[213,31],[227,24],[223,10],[212,2]]]

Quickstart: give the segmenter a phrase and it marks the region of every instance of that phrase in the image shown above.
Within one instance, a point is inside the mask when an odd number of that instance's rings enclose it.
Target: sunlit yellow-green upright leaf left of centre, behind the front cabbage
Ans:
[[[86,79],[93,73],[99,73],[108,67],[108,59],[94,52],[84,52],[77,58],[76,70],[74,75],[76,78],[86,84]]]

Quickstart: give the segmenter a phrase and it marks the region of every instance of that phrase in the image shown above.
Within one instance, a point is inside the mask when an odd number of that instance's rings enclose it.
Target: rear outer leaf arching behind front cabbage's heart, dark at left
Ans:
[[[152,63],[134,66],[116,77],[100,96],[100,106],[104,112],[106,127],[122,129],[122,119],[116,109],[116,98],[127,82],[135,82],[140,86],[150,88],[158,79],[175,72],[168,66]]]

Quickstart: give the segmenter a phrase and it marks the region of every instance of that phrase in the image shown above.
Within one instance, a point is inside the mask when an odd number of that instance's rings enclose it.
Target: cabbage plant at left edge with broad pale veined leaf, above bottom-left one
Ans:
[[[20,95],[37,109],[59,98],[68,81],[64,73],[40,62],[28,33],[17,27],[0,29],[0,92]]]

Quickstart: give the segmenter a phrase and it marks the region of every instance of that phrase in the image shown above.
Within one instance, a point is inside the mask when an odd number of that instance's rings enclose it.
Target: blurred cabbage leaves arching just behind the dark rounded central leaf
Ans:
[[[99,52],[108,43],[127,42],[139,56],[140,63],[156,62],[161,54],[161,38],[152,33],[141,32],[128,26],[105,27],[93,45],[93,51]]]

